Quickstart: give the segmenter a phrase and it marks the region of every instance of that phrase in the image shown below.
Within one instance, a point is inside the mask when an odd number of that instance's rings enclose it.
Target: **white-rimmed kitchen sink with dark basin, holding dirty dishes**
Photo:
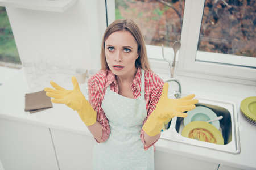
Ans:
[[[172,118],[169,127],[166,131],[162,131],[162,139],[186,143],[188,145],[206,147],[213,150],[219,150],[223,152],[230,152],[232,154],[238,154],[240,152],[240,141],[238,133],[238,122],[236,105],[228,101],[219,101],[211,99],[199,99],[199,103],[196,106],[203,106],[212,109],[217,116],[223,116],[220,120],[220,132],[224,138],[224,145],[218,145],[209,142],[198,141],[183,137],[181,132],[184,128],[182,117]]]

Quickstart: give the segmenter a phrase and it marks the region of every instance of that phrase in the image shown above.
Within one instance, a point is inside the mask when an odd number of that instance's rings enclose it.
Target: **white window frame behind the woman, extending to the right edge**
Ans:
[[[181,29],[181,48],[179,54],[177,54],[177,65],[175,68],[176,74],[179,76],[190,76],[196,78],[204,78],[210,80],[218,80],[224,82],[246,84],[256,86],[256,58],[251,59],[252,63],[255,62],[255,67],[240,67],[235,65],[226,65],[217,61],[202,61],[201,59],[196,60],[197,45],[199,42],[201,20],[203,18],[205,0],[186,0],[184,7],[183,25]],[[111,23],[115,19],[115,1],[106,0],[106,8],[108,13],[108,23]],[[147,46],[150,48],[149,45]],[[159,47],[160,50],[161,47]],[[172,53],[172,48],[167,49],[167,53]],[[148,54],[150,58],[151,67],[158,73],[168,74],[168,63],[162,58],[160,50],[154,51],[153,54]],[[164,52],[166,53],[166,52]],[[173,53],[172,53],[173,54]],[[210,55],[205,52],[204,54],[210,58]],[[151,57],[158,55],[159,57]],[[214,53],[214,55],[220,58],[226,54]],[[172,55],[173,56],[173,55]],[[228,57],[236,57],[236,55],[228,55]],[[243,57],[243,56],[241,56]],[[155,59],[154,59],[155,58]],[[241,58],[242,59],[242,58]],[[229,59],[226,58],[226,61]],[[248,60],[248,59],[247,59]],[[172,61],[172,58],[171,58]],[[240,59],[238,58],[239,62]],[[247,61],[248,62],[248,61]]]

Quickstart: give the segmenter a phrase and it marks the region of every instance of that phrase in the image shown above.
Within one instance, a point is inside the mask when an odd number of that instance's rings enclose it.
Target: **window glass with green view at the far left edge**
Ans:
[[[18,50],[5,7],[0,7],[0,66],[20,67],[20,65]]]

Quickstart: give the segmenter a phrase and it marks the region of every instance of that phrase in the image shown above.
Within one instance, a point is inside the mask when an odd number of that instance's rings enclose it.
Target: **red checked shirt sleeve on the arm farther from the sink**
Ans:
[[[93,109],[97,113],[97,121],[102,125],[102,137],[101,141],[104,142],[106,139],[109,138],[110,134],[110,127],[108,118],[101,108],[101,97],[99,92],[96,89],[94,84],[93,78],[88,80],[88,96],[89,96],[89,103],[92,105]],[[94,138],[96,142],[100,143],[96,138]]]

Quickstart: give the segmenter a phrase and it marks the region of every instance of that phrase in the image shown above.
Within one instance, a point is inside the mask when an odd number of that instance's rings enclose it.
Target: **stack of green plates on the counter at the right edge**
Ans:
[[[251,124],[256,125],[256,96],[243,99],[240,109],[243,117]]]

